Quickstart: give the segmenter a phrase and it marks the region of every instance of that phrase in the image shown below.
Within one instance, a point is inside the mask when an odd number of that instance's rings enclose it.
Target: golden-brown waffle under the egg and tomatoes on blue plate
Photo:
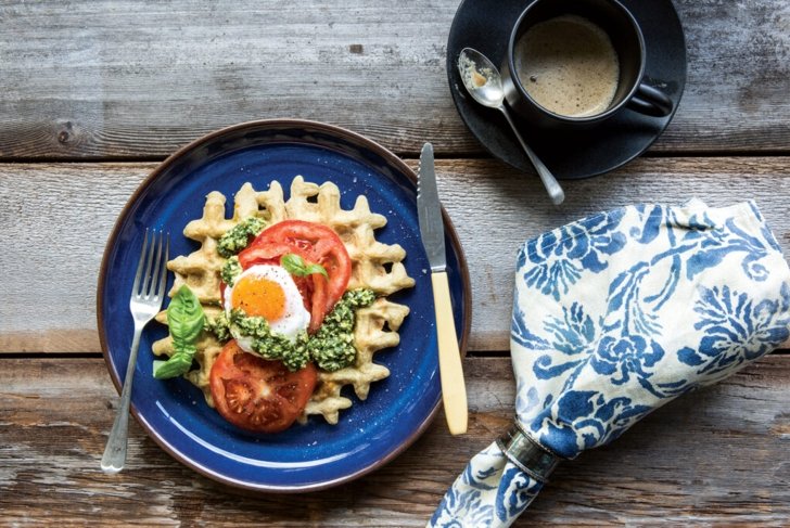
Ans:
[[[384,365],[373,363],[373,355],[399,343],[398,329],[409,313],[408,307],[385,298],[415,284],[402,262],[406,252],[397,244],[382,244],[375,240],[374,230],[384,227],[386,218],[371,213],[365,196],[357,197],[354,208],[343,209],[340,190],[331,182],[319,186],[297,176],[291,183],[288,201],[277,181],[271,182],[268,191],[255,191],[251,183],[244,183],[235,193],[231,219],[225,217],[225,206],[226,196],[217,191],[211,192],[206,196],[202,218],[190,221],[183,230],[184,236],[200,243],[200,248],[167,262],[167,268],[176,276],[169,295],[187,284],[200,299],[208,320],[221,313],[219,272],[225,259],[217,253],[217,243],[228,230],[252,216],[264,218],[268,226],[297,219],[332,228],[352,259],[348,288],[368,287],[377,294],[372,305],[356,312],[354,340],[357,358],[354,366],[335,372],[319,371],[316,390],[300,418],[305,422],[307,416],[320,414],[328,423],[336,424],[340,411],[352,405],[352,400],[341,395],[343,387],[353,386],[357,397],[365,400],[370,384],[390,375]],[[166,312],[161,312],[156,319],[167,324]],[[221,349],[222,345],[213,334],[203,332],[195,353],[199,369],[184,375],[203,391],[212,407],[208,374]],[[170,356],[174,352],[170,337],[155,342],[153,352]]]

